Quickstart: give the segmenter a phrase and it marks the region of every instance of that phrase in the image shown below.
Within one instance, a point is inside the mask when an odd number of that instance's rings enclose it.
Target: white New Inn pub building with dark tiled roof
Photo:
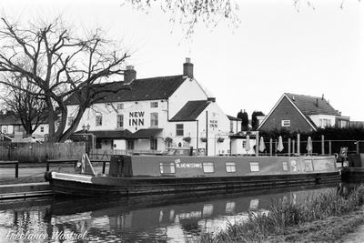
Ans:
[[[116,93],[88,108],[77,132],[96,137],[99,152],[111,149],[163,152],[168,147],[194,147],[208,156],[230,153],[237,120],[207,96],[193,76],[187,58],[183,75],[136,79],[136,70],[127,66],[124,81],[110,83]],[[128,86],[120,89],[120,86]],[[66,101],[68,125],[76,116],[76,101]],[[76,132],[76,133],[77,133]]]

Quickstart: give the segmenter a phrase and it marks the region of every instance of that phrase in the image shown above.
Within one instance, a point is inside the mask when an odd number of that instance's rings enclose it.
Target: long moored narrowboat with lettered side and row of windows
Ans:
[[[339,181],[334,156],[114,156],[97,174],[84,155],[75,173],[45,172],[55,194],[128,197],[190,191],[294,187]]]

